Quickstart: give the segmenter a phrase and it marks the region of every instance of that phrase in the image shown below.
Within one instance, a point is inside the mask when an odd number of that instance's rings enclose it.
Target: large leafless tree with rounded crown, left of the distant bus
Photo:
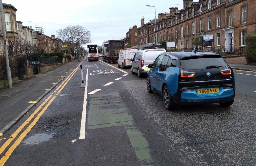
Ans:
[[[91,42],[91,31],[80,25],[59,29],[57,30],[57,36],[64,43],[69,44],[70,48],[73,48],[73,43],[76,48]]]

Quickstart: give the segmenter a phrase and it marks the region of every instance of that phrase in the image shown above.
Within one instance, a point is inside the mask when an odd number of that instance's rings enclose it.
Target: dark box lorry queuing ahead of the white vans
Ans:
[[[124,49],[124,47],[124,40],[109,40],[102,43],[103,61],[107,61],[108,63],[117,61],[119,57],[119,50]]]

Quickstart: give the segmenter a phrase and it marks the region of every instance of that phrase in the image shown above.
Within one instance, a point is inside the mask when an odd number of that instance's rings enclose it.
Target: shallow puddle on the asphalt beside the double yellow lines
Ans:
[[[53,137],[53,134],[56,132],[52,132],[51,134],[36,134],[35,136],[31,136],[26,140],[23,140],[22,144],[39,144],[40,142],[48,141]]]

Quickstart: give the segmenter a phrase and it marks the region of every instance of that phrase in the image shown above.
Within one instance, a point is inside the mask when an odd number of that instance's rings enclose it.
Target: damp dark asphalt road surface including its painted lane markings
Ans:
[[[235,71],[236,98],[164,109],[117,63],[83,61],[0,140],[0,166],[256,165],[256,73]],[[11,136],[11,139],[8,139]]]

